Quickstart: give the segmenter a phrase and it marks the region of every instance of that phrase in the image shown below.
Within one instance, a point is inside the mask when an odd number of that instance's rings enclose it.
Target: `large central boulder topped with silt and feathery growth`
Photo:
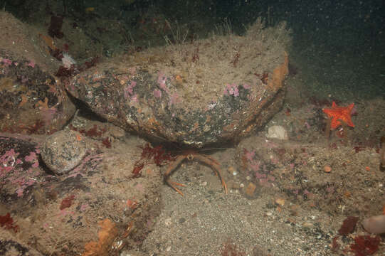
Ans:
[[[285,38],[283,40],[282,38]],[[109,122],[146,137],[201,147],[236,142],[283,104],[285,25],[115,58],[67,90]]]

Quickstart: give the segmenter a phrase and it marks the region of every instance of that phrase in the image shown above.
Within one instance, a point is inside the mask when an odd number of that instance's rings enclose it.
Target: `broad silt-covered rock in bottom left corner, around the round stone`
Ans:
[[[67,132],[73,133],[77,134]],[[95,145],[93,139],[82,137],[83,140],[88,145]],[[104,250],[112,247],[110,242],[116,232],[100,239],[111,240],[103,243],[108,246],[87,246],[100,238],[98,232],[102,227],[95,218],[100,211],[108,213],[107,218],[111,220],[106,218],[103,223],[110,222],[110,227],[114,230],[116,227],[119,234],[127,231],[127,226],[135,225],[135,232],[127,239],[139,245],[152,227],[149,220],[154,220],[160,212],[156,198],[160,197],[163,184],[158,166],[148,167],[151,172],[143,171],[140,177],[135,178],[132,174],[140,157],[136,154],[137,147],[143,145],[144,140],[132,139],[132,146],[115,141],[118,148],[128,149],[121,152],[107,148],[90,149],[75,169],[60,176],[52,175],[41,163],[43,143],[43,136],[0,133],[3,210],[0,215],[10,214],[8,218],[14,220],[14,225],[10,225],[9,220],[6,227],[0,225],[0,255],[21,255],[16,253],[21,250],[26,252],[25,255],[54,255],[56,252],[79,255],[93,248],[99,253],[94,250],[88,255],[110,255]],[[118,226],[115,222],[124,224]],[[20,233],[26,236],[20,237]],[[39,240],[39,245],[28,242],[29,238]],[[58,239],[63,247],[56,247],[54,241]]]

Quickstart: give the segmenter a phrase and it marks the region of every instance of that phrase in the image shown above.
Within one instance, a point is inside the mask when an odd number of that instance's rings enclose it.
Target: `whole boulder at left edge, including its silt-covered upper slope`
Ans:
[[[46,52],[48,36],[0,11],[0,132],[51,134],[75,112],[52,74],[59,62]],[[51,41],[52,43],[52,41]]]

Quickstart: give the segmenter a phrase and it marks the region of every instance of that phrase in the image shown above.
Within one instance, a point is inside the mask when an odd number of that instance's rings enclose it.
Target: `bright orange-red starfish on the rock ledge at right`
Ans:
[[[330,129],[336,129],[341,125],[341,121],[345,122],[349,127],[354,127],[352,122],[352,117],[350,113],[352,112],[354,107],[354,103],[347,107],[339,107],[335,102],[332,104],[332,108],[323,109],[323,112],[327,114],[327,117],[332,118],[332,122],[330,124]]]

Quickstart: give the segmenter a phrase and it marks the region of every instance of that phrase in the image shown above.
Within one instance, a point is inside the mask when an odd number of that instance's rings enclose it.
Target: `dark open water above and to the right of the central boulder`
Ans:
[[[201,23],[208,31],[226,19],[240,34],[258,16],[268,26],[286,21],[293,38],[290,62],[301,73],[308,95],[342,101],[385,97],[384,0],[0,1],[0,8],[29,23],[42,12],[82,19],[90,6],[95,7],[93,15],[134,29],[140,16],[154,13],[180,24]]]

